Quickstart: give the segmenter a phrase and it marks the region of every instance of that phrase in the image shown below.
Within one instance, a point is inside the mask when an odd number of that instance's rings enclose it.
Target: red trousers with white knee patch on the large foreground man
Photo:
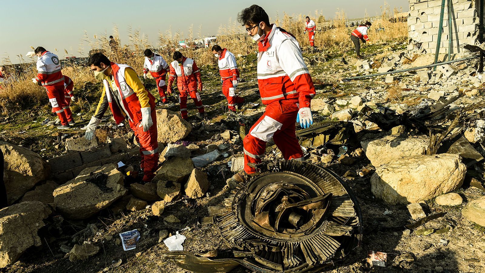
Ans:
[[[303,152],[295,134],[298,106],[296,100],[272,102],[266,106],[264,114],[244,137],[244,171],[256,172],[248,163],[259,164],[266,150],[266,142],[275,141],[285,159],[303,159]]]

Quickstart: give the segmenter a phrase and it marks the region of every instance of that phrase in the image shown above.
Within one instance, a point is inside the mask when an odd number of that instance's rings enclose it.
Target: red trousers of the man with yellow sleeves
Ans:
[[[153,125],[146,132],[143,132],[143,126],[140,127],[140,122],[135,124],[129,121],[129,127],[135,133],[135,139],[140,144],[140,155],[142,157],[140,168],[144,171],[143,181],[145,182],[150,182],[155,177],[160,156],[158,152],[157,114],[155,109],[151,111],[151,118]]]

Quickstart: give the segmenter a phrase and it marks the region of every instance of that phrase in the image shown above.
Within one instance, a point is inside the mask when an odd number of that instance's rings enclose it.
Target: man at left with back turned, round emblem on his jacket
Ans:
[[[69,129],[69,125],[76,124],[72,114],[67,113],[64,109],[64,76],[61,72],[61,64],[59,57],[56,54],[46,51],[43,47],[37,47],[35,51],[27,53],[27,56],[33,57],[36,55],[37,59],[37,77],[32,79],[32,82],[46,87],[47,96],[49,97],[52,112],[56,113],[61,120],[58,129]]]

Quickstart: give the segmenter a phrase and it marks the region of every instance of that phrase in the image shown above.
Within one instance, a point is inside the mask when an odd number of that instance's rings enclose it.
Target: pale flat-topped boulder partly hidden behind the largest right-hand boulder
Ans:
[[[379,167],[394,162],[404,156],[424,154],[429,147],[429,138],[384,136],[378,139],[362,140],[360,142],[372,166]]]

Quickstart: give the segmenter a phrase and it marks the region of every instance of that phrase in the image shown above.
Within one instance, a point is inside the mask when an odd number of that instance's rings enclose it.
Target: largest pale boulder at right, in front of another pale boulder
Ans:
[[[378,167],[371,190],[386,204],[417,203],[459,188],[466,171],[457,154],[414,155]]]

